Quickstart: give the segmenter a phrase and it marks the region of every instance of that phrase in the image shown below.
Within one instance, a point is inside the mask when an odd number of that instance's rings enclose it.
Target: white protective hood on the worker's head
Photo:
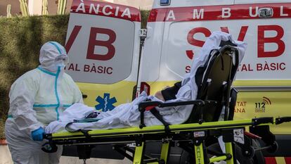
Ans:
[[[67,52],[58,42],[46,42],[41,46],[39,63],[40,68],[56,72],[58,67],[64,68],[67,65]]]

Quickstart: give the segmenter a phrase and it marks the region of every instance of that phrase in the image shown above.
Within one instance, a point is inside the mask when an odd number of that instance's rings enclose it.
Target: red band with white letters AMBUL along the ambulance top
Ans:
[[[224,6],[195,6],[176,8],[153,8],[148,22],[176,22],[201,20],[258,19],[258,8],[273,8],[272,18],[291,18],[291,6],[276,4],[238,4]]]

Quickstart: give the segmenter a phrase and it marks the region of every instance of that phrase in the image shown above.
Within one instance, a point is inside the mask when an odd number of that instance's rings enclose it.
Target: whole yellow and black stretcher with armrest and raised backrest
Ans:
[[[233,102],[236,101],[235,89],[231,84],[238,69],[238,49],[231,42],[221,42],[221,49],[211,51],[207,63],[198,69],[195,81],[198,85],[198,97],[195,101],[175,103],[160,103],[145,101],[139,104],[141,123],[139,127],[120,128],[112,130],[78,130],[78,132],[57,132],[46,134],[49,149],[54,152],[57,145],[77,146],[79,158],[90,158],[93,145],[112,144],[116,151],[138,163],[168,163],[169,151],[172,146],[179,146],[195,157],[196,164],[214,163],[226,160],[227,164],[237,163],[235,145],[243,150],[243,156],[254,156],[255,151],[278,149],[274,135],[269,131],[269,125],[279,125],[290,121],[286,118],[252,118],[247,120],[232,120]],[[202,72],[202,73],[201,73]],[[231,101],[230,101],[231,100]],[[155,107],[185,106],[193,104],[193,111],[188,120],[181,125],[169,125],[162,120]],[[163,125],[146,127],[144,112],[150,111]],[[254,149],[250,138],[246,137],[248,127],[252,136],[259,136],[266,146]],[[225,152],[207,149],[209,138],[222,137]],[[160,158],[152,158],[145,154],[146,143],[159,141],[162,143]],[[128,144],[135,144],[135,148]],[[209,154],[213,157],[209,158]]]

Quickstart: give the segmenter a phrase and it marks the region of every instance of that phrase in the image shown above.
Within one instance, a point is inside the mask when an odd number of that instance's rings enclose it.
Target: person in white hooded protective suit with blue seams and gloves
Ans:
[[[10,108],[5,133],[15,164],[59,163],[62,148],[44,153],[44,128],[58,120],[65,108],[83,103],[82,94],[70,75],[65,48],[58,42],[41,47],[40,65],[18,78],[9,93]]]

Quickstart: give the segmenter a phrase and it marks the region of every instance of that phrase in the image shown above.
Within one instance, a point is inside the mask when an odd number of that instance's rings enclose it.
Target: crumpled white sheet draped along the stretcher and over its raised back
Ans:
[[[234,44],[238,45],[238,51],[240,56],[240,61],[243,59],[245,54],[245,49],[247,44],[244,42],[234,41],[231,34],[224,32],[214,32],[203,45],[200,53],[195,56],[190,73],[183,77],[182,86],[179,92],[176,94],[176,99],[166,101],[176,102],[176,101],[191,101],[195,100],[198,92],[198,87],[195,84],[195,73],[196,70],[205,64],[207,57],[212,49],[219,49],[219,45],[222,41],[230,40]],[[138,103],[144,101],[145,99],[151,99],[152,101],[160,101],[155,96],[148,96],[143,92],[138,98],[136,98],[131,103],[125,103],[117,106],[114,110],[108,112],[101,112],[97,118],[101,118],[98,122],[86,122],[86,123],[73,123],[70,125],[72,130],[92,130],[92,129],[115,129],[121,127],[138,127],[140,123],[140,112],[138,111]],[[164,121],[171,125],[181,124],[188,120],[190,113],[192,111],[193,105],[188,106],[173,106],[167,108],[157,108],[160,115],[163,116]],[[70,110],[69,110],[70,109]],[[88,113],[94,111],[94,108],[84,106],[83,104],[75,104],[66,110],[59,121],[51,122],[48,127],[46,127],[46,133],[58,132],[64,130],[65,125],[73,120],[84,119]],[[157,120],[155,116],[150,113],[150,111],[145,111],[145,125],[162,125],[160,120]]]

